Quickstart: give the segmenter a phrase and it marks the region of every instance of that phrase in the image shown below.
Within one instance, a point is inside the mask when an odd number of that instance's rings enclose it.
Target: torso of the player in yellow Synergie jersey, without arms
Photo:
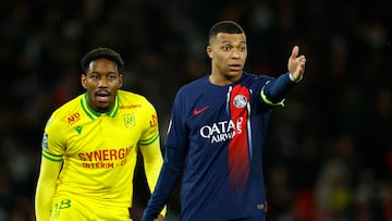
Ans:
[[[128,201],[144,114],[143,103],[124,99],[110,114],[91,112],[77,102],[62,110],[57,120],[64,125],[66,149],[58,193],[101,194]]]

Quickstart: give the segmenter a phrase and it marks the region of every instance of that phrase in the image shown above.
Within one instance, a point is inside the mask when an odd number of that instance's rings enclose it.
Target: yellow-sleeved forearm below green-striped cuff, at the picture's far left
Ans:
[[[56,182],[60,169],[61,162],[52,162],[42,158],[35,196],[35,213],[37,221],[50,220],[52,198],[56,193]]]

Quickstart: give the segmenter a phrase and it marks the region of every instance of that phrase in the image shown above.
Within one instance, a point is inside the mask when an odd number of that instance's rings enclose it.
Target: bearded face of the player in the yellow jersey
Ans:
[[[97,112],[107,112],[114,105],[115,95],[122,85],[122,75],[115,62],[97,59],[82,74],[82,85],[87,90],[88,105]]]

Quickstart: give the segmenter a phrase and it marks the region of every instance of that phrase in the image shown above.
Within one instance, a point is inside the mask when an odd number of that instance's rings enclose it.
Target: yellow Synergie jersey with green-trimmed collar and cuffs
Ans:
[[[54,195],[48,197],[82,197],[118,208],[132,207],[138,149],[150,191],[163,162],[156,109],[145,97],[124,90],[118,91],[115,105],[106,113],[89,107],[87,94],[57,109],[41,146],[42,161],[62,163]],[[37,189],[42,191],[39,185],[47,184],[41,179]],[[47,211],[37,208],[36,212]]]

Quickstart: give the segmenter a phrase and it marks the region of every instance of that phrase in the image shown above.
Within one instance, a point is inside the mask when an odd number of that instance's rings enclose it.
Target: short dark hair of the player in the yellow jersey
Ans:
[[[120,53],[115,52],[110,48],[99,47],[90,50],[86,53],[81,60],[82,70],[86,73],[88,70],[88,65],[91,61],[97,59],[108,59],[113,61],[118,65],[119,72],[124,67],[124,61],[122,60]]]

